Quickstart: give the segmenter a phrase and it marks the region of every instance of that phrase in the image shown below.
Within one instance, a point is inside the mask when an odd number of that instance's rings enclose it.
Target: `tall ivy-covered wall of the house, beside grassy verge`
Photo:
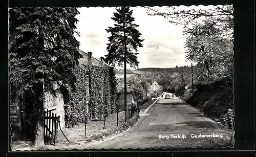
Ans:
[[[65,121],[67,127],[75,122],[113,114],[116,109],[116,78],[113,67],[79,65],[74,69],[76,75],[76,91],[69,90],[70,98],[65,105]]]

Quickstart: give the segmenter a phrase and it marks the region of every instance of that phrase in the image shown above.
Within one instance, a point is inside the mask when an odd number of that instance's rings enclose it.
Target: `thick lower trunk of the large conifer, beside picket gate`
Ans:
[[[45,146],[44,143],[44,102],[43,102],[42,83],[36,86],[36,103],[37,103],[37,122],[35,127],[35,148],[40,149]]]

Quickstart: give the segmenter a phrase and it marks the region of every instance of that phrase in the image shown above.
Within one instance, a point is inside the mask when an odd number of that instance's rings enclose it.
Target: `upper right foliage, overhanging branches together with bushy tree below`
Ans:
[[[201,65],[200,71],[205,81],[232,77],[232,5],[202,9],[166,7],[165,11],[146,8],[149,15],[164,16],[170,19],[171,24],[184,26],[184,35],[187,35],[186,59]]]

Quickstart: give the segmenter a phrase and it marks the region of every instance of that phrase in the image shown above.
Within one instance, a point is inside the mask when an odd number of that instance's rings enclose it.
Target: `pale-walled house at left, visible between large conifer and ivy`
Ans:
[[[79,50],[79,53],[83,55],[83,58],[79,59],[79,64],[93,64],[96,66],[108,66],[104,62],[92,57],[92,52],[85,53]],[[54,83],[54,88],[58,87],[57,83]],[[87,90],[89,93],[89,89]],[[89,94],[88,94],[89,95]],[[51,111],[54,115],[60,116],[60,127],[65,127],[65,110],[64,110],[64,101],[63,96],[60,93],[56,94],[56,97],[50,93],[44,93],[44,109],[45,111]],[[28,110],[28,108],[27,108]],[[12,140],[23,139],[23,140],[32,140],[31,131],[28,128],[28,122],[26,120],[26,108],[21,102],[15,100],[10,104],[11,112],[11,127],[12,127]],[[49,126],[51,128],[51,126]],[[29,130],[29,131],[28,131]],[[60,128],[58,128],[60,131]]]

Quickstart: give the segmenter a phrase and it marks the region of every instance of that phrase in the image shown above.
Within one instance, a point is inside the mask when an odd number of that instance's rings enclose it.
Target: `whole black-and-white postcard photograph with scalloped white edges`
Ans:
[[[9,8],[12,151],[233,148],[233,6]]]

